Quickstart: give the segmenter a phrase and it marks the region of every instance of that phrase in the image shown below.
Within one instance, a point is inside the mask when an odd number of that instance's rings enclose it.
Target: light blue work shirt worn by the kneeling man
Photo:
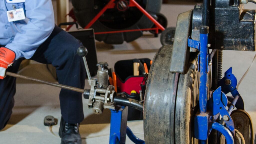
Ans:
[[[8,22],[7,11],[19,8],[26,18]],[[0,45],[13,50],[16,59],[31,58],[54,26],[51,0],[0,0]]]

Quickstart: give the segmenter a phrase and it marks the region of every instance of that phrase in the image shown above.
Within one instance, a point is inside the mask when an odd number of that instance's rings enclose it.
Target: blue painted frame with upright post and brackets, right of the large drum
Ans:
[[[209,27],[202,26],[200,28],[200,41],[188,38],[188,46],[199,50],[199,112],[195,116],[195,138],[199,139],[199,143],[207,143],[207,138],[212,129],[221,132],[227,140],[228,144],[234,143],[234,122],[230,117],[234,106],[243,109],[243,100],[236,89],[237,79],[232,74],[232,68],[228,69],[225,77],[222,78],[218,85],[220,86],[214,91],[212,98],[208,99],[208,73],[210,71],[208,62],[213,56],[209,54],[208,49]],[[230,84],[226,81],[230,80]],[[229,82],[229,81],[228,81]],[[223,87],[223,92],[221,91]],[[226,109],[228,98],[225,94],[231,92],[233,97],[229,97],[232,105]],[[208,109],[207,109],[208,108]],[[225,117],[226,127],[216,122],[221,115]]]

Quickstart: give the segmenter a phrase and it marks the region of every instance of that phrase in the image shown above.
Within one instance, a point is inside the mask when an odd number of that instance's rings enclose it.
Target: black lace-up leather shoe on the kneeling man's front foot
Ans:
[[[61,118],[59,136],[60,144],[81,144],[81,136],[79,133],[79,124],[69,124]]]

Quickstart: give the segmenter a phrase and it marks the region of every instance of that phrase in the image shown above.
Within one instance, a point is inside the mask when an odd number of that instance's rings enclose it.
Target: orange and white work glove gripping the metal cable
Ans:
[[[6,48],[0,48],[0,79],[4,79],[6,69],[13,64],[15,60],[15,53]]]

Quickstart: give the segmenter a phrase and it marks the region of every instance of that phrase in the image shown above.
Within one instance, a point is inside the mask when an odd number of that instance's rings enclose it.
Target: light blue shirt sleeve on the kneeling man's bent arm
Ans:
[[[31,58],[54,29],[54,11],[51,0],[26,0],[25,13],[28,22],[20,28],[14,40],[5,47],[13,50],[16,59]]]

